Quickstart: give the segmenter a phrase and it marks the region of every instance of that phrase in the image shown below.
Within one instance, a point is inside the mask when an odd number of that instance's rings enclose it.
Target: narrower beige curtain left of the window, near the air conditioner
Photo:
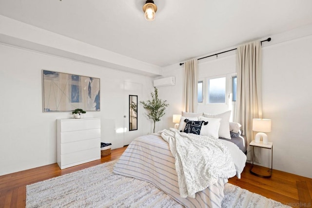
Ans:
[[[192,59],[184,63],[184,111],[197,111],[198,60]]]

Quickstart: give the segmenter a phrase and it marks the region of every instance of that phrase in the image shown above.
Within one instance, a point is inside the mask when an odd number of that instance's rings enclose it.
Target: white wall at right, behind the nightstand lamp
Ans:
[[[311,78],[312,36],[263,48],[263,113],[272,119],[273,168],[310,178]]]

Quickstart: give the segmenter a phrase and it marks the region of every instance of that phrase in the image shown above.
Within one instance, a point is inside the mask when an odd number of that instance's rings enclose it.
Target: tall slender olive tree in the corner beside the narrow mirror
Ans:
[[[158,98],[158,90],[154,87],[154,93],[151,93],[152,100],[140,101],[143,105],[143,108],[148,111],[145,113],[149,119],[154,121],[154,129],[155,133],[155,124],[157,121],[160,121],[160,118],[165,114],[166,107],[169,106],[167,100],[161,100]]]

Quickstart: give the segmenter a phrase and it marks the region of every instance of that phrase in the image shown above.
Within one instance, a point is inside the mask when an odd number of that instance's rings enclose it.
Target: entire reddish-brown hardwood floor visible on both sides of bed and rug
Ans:
[[[110,155],[102,156],[100,160],[64,170],[60,170],[55,163],[0,176],[0,208],[23,208],[26,202],[26,185],[118,159],[125,149],[126,147],[112,150]],[[255,168],[259,171],[266,170],[263,167]],[[249,169],[250,164],[247,164],[241,179],[233,177],[229,182],[292,207],[312,208],[311,178],[273,170],[272,177],[266,179],[250,174]]]

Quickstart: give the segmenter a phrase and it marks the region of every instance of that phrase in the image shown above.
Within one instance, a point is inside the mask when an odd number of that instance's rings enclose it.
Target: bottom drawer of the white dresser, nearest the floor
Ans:
[[[84,163],[85,160],[92,159],[92,158],[101,158],[101,148],[93,148],[84,151],[75,151],[68,154],[61,155],[61,166],[66,166],[72,163],[75,165]],[[81,162],[81,163],[79,163]]]

